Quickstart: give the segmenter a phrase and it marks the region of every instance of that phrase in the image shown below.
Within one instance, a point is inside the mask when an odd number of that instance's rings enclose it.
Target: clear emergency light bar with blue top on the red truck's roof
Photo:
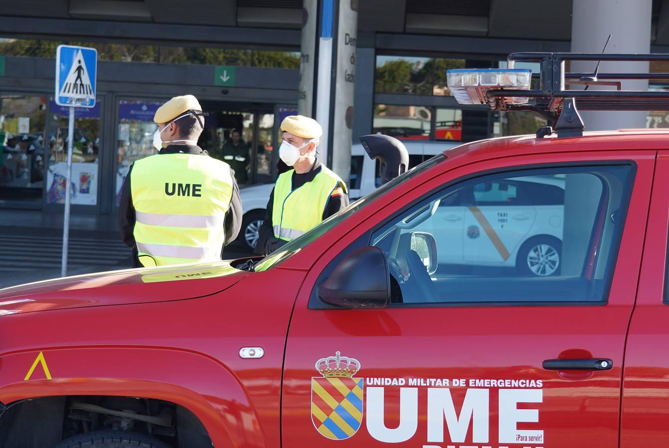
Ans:
[[[529,90],[531,69],[451,69],[446,70],[448,89],[460,104],[494,104],[488,99],[488,90]],[[506,104],[524,104],[528,97],[502,97]]]

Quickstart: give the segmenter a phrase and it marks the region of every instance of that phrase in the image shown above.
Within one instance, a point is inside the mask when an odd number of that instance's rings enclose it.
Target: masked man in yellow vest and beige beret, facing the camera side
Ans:
[[[347,186],[316,160],[322,128],[311,118],[290,116],[281,123],[281,160],[292,167],[276,180],[254,250],[270,254],[349,205]]]

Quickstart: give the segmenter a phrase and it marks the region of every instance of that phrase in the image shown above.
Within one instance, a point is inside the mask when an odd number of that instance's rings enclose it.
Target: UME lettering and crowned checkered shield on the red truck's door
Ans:
[[[419,448],[545,447],[540,405],[531,405],[543,403],[541,379],[353,378],[360,367],[357,359],[339,351],[316,362],[322,377],[312,377],[311,420],[328,439],[353,436],[361,427],[366,401],[367,432],[380,442],[411,440]],[[387,395],[393,401],[399,398],[393,406],[399,410],[399,423],[389,426]]]

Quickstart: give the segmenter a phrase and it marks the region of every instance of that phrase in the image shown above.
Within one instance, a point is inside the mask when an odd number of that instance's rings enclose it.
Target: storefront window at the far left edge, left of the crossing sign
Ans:
[[[41,204],[45,97],[0,96],[0,203]]]

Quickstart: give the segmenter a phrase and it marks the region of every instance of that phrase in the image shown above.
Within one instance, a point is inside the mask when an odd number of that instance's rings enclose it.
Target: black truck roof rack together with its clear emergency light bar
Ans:
[[[529,70],[514,69],[518,61],[539,62],[539,73],[531,73],[531,79],[537,79],[535,89],[530,89]],[[599,64],[593,73],[571,73],[565,69],[567,61],[669,61],[669,54],[511,53],[508,69],[449,70],[448,85],[458,102],[487,103],[491,110],[498,111],[532,111],[547,119],[558,136],[565,137],[583,135],[578,109],[669,111],[669,91],[622,90],[621,84],[624,79],[669,79],[669,73],[598,73]],[[481,77],[474,85],[477,72]],[[490,82],[494,73],[500,76],[497,83]],[[570,85],[585,85],[585,89],[568,90]],[[589,90],[591,85],[611,85],[616,89]],[[478,92],[472,94],[472,89]],[[552,132],[552,128],[542,128],[537,136]]]

